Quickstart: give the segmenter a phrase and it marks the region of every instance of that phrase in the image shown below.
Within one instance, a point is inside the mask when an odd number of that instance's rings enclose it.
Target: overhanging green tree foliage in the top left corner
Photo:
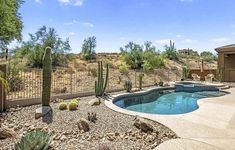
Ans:
[[[18,12],[22,0],[0,0],[0,49],[7,51],[13,40],[21,40],[23,22]]]

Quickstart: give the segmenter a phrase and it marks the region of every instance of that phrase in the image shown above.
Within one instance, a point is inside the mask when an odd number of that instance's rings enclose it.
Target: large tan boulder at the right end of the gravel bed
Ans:
[[[148,120],[137,116],[134,119],[134,126],[136,126],[138,129],[141,129],[143,132],[155,131],[153,125],[151,125],[151,123]]]

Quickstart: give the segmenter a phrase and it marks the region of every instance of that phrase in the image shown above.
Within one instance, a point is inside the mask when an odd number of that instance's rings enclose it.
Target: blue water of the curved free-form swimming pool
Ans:
[[[201,98],[222,95],[225,93],[219,91],[155,91],[141,96],[121,98],[114,101],[114,104],[127,110],[150,114],[183,114],[198,109],[197,101]]]

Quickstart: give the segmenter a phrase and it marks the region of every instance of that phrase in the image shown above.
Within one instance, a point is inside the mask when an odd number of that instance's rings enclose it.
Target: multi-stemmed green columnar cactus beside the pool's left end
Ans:
[[[109,78],[109,65],[106,65],[106,77],[103,78],[103,64],[102,61],[98,62],[98,81],[95,81],[95,95],[103,96]]]

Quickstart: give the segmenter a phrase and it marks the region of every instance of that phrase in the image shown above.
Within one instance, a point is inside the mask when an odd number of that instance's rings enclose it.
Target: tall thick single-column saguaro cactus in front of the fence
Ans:
[[[51,48],[46,47],[43,56],[42,106],[49,106],[51,98]]]

